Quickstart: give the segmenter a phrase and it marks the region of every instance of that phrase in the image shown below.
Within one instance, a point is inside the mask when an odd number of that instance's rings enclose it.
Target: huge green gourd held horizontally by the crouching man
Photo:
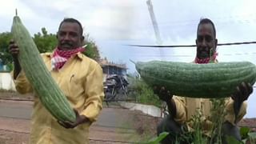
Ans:
[[[136,70],[150,86],[166,86],[172,94],[190,98],[226,98],[242,82],[254,85],[256,66],[251,62],[195,64],[136,62]]]

